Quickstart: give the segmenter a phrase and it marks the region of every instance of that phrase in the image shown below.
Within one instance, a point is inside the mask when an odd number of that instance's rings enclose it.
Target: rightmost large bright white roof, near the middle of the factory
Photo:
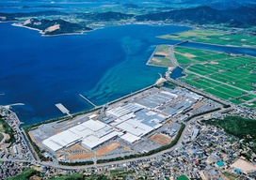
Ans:
[[[135,119],[125,121],[118,125],[117,128],[130,132],[131,134],[134,134],[138,137],[141,137],[153,130],[153,128],[151,128],[150,126],[140,123]]]

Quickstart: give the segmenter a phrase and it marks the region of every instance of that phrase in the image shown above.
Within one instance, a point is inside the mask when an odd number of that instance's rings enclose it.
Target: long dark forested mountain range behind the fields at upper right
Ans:
[[[166,23],[226,23],[233,27],[248,27],[256,25],[256,8],[241,7],[232,10],[217,10],[210,7],[185,8],[140,15],[136,16],[136,20]]]

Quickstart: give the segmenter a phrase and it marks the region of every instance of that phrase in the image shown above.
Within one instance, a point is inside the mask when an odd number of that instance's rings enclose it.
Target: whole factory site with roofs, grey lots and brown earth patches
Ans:
[[[93,153],[96,157],[114,158],[149,152],[170,143],[181,127],[170,117],[183,122],[188,112],[202,113],[221,107],[184,88],[152,87],[71,122],[41,125],[30,135],[46,150],[45,156],[54,155],[59,160],[92,159]],[[108,146],[115,148],[101,153]]]

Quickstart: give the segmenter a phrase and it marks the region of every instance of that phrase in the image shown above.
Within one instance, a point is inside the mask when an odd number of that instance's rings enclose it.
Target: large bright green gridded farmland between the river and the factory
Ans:
[[[255,57],[184,47],[176,47],[175,53],[178,54],[175,54],[178,63],[188,66],[184,70],[186,76],[181,81],[234,104],[256,108],[256,101],[252,101],[256,98]],[[190,57],[182,53],[190,54]]]

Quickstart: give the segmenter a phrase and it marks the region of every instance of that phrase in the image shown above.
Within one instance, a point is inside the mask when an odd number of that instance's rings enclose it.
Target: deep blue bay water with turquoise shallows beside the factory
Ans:
[[[0,93],[5,94],[0,104],[24,103],[13,111],[28,125],[63,115],[56,103],[71,113],[91,109],[80,93],[96,105],[121,98],[152,85],[167,70],[146,66],[157,45],[177,42],[157,36],[189,29],[133,24],[41,37],[37,31],[0,23]],[[255,55],[249,49],[208,49]]]

